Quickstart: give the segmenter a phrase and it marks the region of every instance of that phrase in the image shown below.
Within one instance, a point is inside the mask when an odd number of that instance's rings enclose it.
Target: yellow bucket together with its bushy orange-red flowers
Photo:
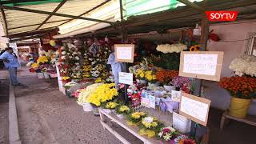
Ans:
[[[218,86],[226,89],[231,96],[230,115],[245,118],[252,98],[256,98],[256,78],[222,78]]]

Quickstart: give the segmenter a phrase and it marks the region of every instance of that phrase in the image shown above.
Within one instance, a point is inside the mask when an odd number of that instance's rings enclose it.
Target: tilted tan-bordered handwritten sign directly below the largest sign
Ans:
[[[206,126],[209,109],[210,100],[182,93],[179,114]]]

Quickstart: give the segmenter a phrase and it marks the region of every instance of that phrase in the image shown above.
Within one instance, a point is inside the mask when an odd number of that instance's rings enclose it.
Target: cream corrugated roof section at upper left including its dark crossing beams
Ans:
[[[1,0],[1,21],[7,37],[33,31],[53,30],[74,19],[106,22],[84,15],[110,0]],[[110,23],[110,22],[106,22]],[[25,34],[25,35],[26,35]]]

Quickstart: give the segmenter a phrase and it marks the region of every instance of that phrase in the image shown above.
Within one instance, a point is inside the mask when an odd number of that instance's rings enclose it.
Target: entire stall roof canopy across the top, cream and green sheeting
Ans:
[[[117,34],[120,0],[0,0],[1,21],[8,38],[54,38],[94,32]],[[195,26],[205,10],[238,10],[238,18],[253,19],[255,0],[122,0],[128,33]]]

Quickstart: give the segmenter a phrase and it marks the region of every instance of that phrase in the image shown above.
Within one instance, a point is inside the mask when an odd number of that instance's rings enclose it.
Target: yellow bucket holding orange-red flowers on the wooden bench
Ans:
[[[230,100],[230,115],[237,118],[245,118],[250,107],[251,99],[232,97]]]

